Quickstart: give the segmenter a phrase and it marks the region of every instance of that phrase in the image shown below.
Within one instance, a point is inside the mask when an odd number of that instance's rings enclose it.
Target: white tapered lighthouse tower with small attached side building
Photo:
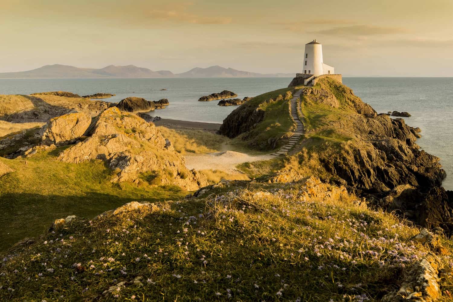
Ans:
[[[304,74],[311,74],[315,77],[321,74],[333,74],[335,69],[323,63],[323,45],[313,40],[305,44],[304,53]]]

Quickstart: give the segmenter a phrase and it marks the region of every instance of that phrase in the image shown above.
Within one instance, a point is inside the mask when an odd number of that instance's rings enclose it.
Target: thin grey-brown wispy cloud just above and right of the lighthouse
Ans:
[[[382,27],[373,25],[351,25],[343,27],[335,27],[332,29],[323,29],[311,31],[312,34],[326,35],[343,35],[343,36],[364,36],[364,35],[379,35],[379,34],[407,34],[409,30],[397,27]]]

